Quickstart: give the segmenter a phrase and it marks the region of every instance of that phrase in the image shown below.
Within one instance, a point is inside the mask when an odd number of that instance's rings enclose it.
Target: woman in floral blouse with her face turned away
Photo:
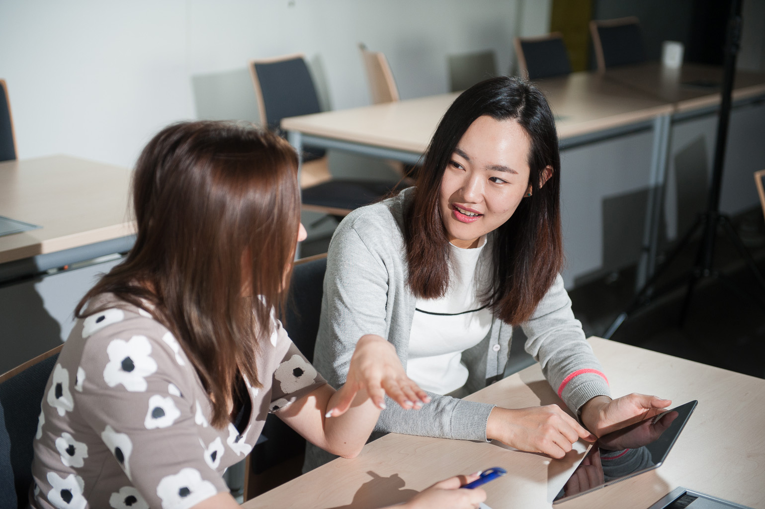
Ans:
[[[357,455],[384,408],[427,395],[382,338],[357,338],[337,392],[275,319],[300,224],[298,158],[252,126],[182,122],[133,178],[135,246],[77,306],[34,441],[31,507],[239,507],[223,471],[268,413]],[[416,403],[415,403],[416,402]],[[409,507],[475,507],[452,478]]]

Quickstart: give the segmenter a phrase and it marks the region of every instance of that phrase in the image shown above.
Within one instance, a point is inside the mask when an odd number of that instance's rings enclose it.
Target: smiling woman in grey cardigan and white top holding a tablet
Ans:
[[[444,114],[416,186],[354,210],[327,259],[314,362],[346,379],[356,338],[395,347],[432,398],[419,413],[390,406],[376,432],[498,439],[562,458],[670,402],[610,399],[601,365],[571,312],[560,272],[560,156],[545,96],[508,77],[462,93]],[[510,409],[461,400],[503,376],[514,326],[580,424],[556,405]],[[588,431],[589,430],[589,431]],[[306,468],[327,460],[308,448]]]

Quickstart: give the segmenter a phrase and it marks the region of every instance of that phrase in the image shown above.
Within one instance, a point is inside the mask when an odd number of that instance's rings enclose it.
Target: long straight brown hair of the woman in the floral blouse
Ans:
[[[77,318],[92,315],[86,302],[111,292],[152,312],[194,364],[213,426],[228,419],[239,373],[261,386],[256,352],[284,306],[297,242],[297,168],[285,140],[249,124],[166,127],[133,175],[135,246],[77,305]]]

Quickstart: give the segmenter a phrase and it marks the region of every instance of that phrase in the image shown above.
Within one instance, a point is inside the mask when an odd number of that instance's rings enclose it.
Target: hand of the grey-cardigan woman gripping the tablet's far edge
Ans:
[[[581,422],[595,436],[604,436],[659,415],[671,404],[672,400],[637,393],[627,394],[616,400],[611,400],[608,396],[595,396],[581,407]]]

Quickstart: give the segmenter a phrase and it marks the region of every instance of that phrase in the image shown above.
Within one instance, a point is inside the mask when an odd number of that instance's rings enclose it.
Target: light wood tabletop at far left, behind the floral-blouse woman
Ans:
[[[0,237],[0,263],[134,233],[130,176],[67,155],[0,162],[0,216],[41,227]]]

